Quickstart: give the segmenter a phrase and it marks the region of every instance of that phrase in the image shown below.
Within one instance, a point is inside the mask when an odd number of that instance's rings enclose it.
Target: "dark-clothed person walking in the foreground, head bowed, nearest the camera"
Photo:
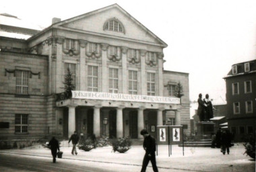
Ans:
[[[143,158],[142,168],[141,172],[145,172],[146,168],[148,166],[148,163],[151,161],[153,171],[158,172],[158,167],[156,167],[156,139],[154,139],[150,134],[148,134],[148,131],[143,129],[141,130],[140,134],[144,138],[143,142],[143,148],[146,150],[146,153]]]

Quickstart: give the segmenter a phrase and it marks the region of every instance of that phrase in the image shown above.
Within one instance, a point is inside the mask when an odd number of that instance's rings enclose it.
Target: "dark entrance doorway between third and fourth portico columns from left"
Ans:
[[[129,111],[129,135],[131,138],[137,138],[137,111]]]

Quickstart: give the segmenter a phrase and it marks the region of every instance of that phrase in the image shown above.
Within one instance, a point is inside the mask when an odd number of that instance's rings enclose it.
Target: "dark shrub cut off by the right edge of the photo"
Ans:
[[[245,153],[249,155],[249,157],[255,159],[255,135],[249,134],[248,136],[245,136],[245,142]]]

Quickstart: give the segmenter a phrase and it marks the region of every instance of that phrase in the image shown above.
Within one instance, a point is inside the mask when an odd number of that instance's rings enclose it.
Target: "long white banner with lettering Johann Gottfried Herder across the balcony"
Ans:
[[[177,97],[160,97],[150,95],[131,95],[121,93],[102,93],[102,92],[88,92],[88,91],[72,91],[73,99],[102,99],[115,101],[136,101],[146,103],[167,103],[179,104],[180,99]]]

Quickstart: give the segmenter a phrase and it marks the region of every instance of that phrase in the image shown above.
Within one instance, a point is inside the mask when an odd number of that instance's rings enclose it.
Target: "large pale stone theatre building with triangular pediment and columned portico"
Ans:
[[[141,129],[156,136],[156,126],[166,124],[183,125],[189,134],[189,74],[165,71],[167,44],[119,5],[53,18],[44,30],[25,28],[7,13],[0,17],[1,140],[67,138],[74,130],[141,138]],[[63,94],[68,69],[75,85],[69,98]]]

